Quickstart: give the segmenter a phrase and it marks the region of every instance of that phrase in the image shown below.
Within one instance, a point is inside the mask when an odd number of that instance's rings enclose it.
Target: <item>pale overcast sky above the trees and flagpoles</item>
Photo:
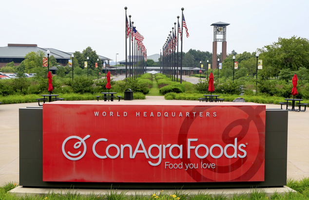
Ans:
[[[125,6],[145,38],[147,55],[160,54],[177,16],[181,19],[181,7],[190,34],[183,39],[184,52],[212,52],[210,25],[218,21],[231,24],[228,53],[253,52],[278,37],[309,38],[309,0],[3,0],[0,46],[37,44],[64,52],[90,46],[114,61],[118,54],[120,61],[125,59]]]

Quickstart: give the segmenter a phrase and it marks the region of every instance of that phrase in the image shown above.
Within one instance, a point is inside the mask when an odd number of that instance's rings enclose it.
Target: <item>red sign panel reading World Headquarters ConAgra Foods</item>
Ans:
[[[43,181],[264,181],[265,106],[138,103],[44,104]]]

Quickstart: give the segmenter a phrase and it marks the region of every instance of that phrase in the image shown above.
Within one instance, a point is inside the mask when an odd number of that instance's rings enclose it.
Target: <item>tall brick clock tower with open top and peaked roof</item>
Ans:
[[[211,25],[213,26],[212,69],[217,69],[217,42],[222,42],[222,60],[226,58],[226,27],[228,25],[230,24],[221,21]]]

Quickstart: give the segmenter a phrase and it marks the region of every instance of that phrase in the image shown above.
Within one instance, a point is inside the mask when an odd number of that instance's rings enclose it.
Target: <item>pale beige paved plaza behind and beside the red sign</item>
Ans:
[[[165,101],[163,96],[147,96],[143,101],[158,100]],[[28,106],[38,103],[0,105],[0,185],[19,182],[19,108]],[[309,177],[309,110],[289,112],[288,178],[303,177]]]

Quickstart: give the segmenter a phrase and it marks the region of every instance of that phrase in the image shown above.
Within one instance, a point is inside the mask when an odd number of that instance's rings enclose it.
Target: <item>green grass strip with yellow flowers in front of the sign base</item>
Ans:
[[[263,188],[250,189],[248,193],[238,193],[228,196],[227,192],[212,195],[207,190],[200,191],[193,194],[190,190],[176,189],[176,190],[154,190],[152,194],[129,194],[128,191],[118,191],[117,189],[106,190],[105,193],[96,194],[95,191],[88,195],[82,195],[76,190],[62,189],[61,193],[50,192],[46,195],[25,195],[16,196],[14,193],[8,191],[18,186],[18,183],[9,182],[0,187],[0,200],[308,200],[309,199],[309,178],[301,180],[288,180],[287,186],[295,190],[295,192],[288,192],[279,194],[274,192],[267,194]],[[112,187],[112,185],[111,185]],[[228,190],[228,189],[226,189]]]

